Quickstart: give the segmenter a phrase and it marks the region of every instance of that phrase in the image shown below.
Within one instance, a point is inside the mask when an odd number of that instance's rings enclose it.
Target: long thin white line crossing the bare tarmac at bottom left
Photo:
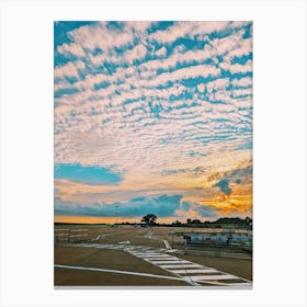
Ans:
[[[186,281],[185,278],[182,278],[182,277],[155,275],[155,274],[148,274],[148,273],[139,273],[139,272],[130,272],[130,271],[118,271],[118,270],[109,270],[109,269],[99,269],[99,268],[87,268],[87,266],[61,265],[61,264],[55,264],[54,266],[58,268],[58,269],[70,269],[70,270],[81,270],[81,271],[117,273],[117,274],[125,274],[125,275],[136,275],[136,276],[145,276],[145,277],[154,277],[154,278],[162,278],[162,280],[182,281],[182,282],[187,282],[187,283],[191,284],[190,281]]]

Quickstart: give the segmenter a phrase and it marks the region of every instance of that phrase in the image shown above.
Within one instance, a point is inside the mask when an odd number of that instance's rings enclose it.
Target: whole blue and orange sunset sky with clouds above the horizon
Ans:
[[[55,22],[55,221],[252,215],[252,22]]]

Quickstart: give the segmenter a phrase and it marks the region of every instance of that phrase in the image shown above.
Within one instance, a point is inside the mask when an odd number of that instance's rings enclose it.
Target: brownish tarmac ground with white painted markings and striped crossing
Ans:
[[[192,229],[56,225],[55,232],[60,236],[55,245],[54,284],[125,287],[251,285],[251,257],[211,257],[204,254],[203,248],[186,249],[182,237],[172,236],[177,231]],[[243,252],[242,258],[246,258]]]

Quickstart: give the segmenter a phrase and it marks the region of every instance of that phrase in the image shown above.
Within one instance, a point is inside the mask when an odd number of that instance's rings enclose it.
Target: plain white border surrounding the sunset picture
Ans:
[[[53,287],[53,21],[254,22],[252,291]],[[2,1],[1,306],[306,306],[306,2]]]

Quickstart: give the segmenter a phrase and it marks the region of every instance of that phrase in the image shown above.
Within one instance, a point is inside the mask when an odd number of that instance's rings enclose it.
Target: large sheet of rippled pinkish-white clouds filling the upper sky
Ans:
[[[206,184],[204,174],[195,179],[164,170],[202,166],[206,173],[228,171],[250,157],[250,150],[235,149],[251,137],[251,98],[246,96],[251,94],[251,78],[231,75],[251,71],[252,62],[231,59],[236,50],[250,54],[251,39],[240,30],[223,38],[207,35],[245,23],[182,22],[148,35],[150,24],[127,22],[123,31],[109,30],[103,22],[82,26],[69,33],[72,43],[57,48],[69,61],[55,68],[55,90],[65,92],[55,100],[55,162],[116,166],[124,181],[112,187],[116,193],[103,192],[110,202],[144,191],[191,195],[195,184]],[[178,37],[207,43],[194,49],[181,45],[170,53],[161,47]],[[120,54],[115,47],[122,48]],[[93,53],[95,48],[102,53]],[[220,62],[217,55],[223,55]],[[223,77],[221,69],[230,76]],[[76,82],[67,80],[70,77]]]

